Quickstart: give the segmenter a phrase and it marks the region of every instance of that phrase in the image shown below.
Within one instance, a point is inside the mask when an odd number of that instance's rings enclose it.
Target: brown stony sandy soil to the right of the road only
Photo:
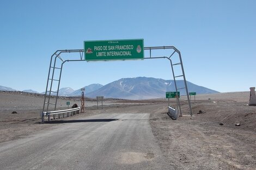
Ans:
[[[200,100],[192,102],[192,119],[151,114],[153,133],[171,165],[175,169],[256,169],[256,106],[245,106],[249,92],[196,98]],[[188,115],[186,102],[181,103],[183,114]],[[198,115],[199,110],[205,114]]]

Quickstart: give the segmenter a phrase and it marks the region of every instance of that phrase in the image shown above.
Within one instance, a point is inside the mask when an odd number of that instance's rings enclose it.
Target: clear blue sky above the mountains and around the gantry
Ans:
[[[0,85],[45,91],[57,49],[144,39],[175,46],[186,79],[220,92],[256,86],[256,1],[0,1]],[[162,51],[160,52],[162,53]],[[167,51],[163,55],[167,55]],[[147,55],[145,55],[147,56]],[[173,79],[167,60],[68,62],[60,87],[120,78]]]

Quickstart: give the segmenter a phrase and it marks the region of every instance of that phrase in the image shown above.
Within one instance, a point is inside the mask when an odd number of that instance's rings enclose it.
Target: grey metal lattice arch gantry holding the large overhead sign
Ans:
[[[156,49],[173,49],[173,53],[168,57],[167,56],[151,56],[151,51],[154,51]],[[185,78],[184,67],[183,67],[183,64],[182,64],[180,51],[178,51],[178,49],[176,49],[173,46],[144,47],[144,50],[149,51],[149,57],[144,58],[144,59],[161,59],[161,58],[163,58],[163,59],[168,59],[170,61],[170,65],[172,67],[172,72],[173,72],[173,79],[174,79],[176,92],[178,92],[178,90],[181,90],[181,89],[186,90],[188,105],[189,105],[189,108],[190,108],[190,115],[192,116],[191,103],[190,103],[190,98],[189,98],[189,95],[188,95],[187,82],[186,82],[186,78]],[[79,53],[80,58],[78,58],[76,60],[63,60],[63,58],[61,56],[61,54],[63,54],[63,53]],[[47,78],[47,85],[46,85],[45,98],[44,98],[44,106],[43,106],[43,109],[42,109],[43,112],[48,111],[50,105],[54,106],[54,110],[56,110],[57,100],[58,100],[58,93],[59,93],[60,78],[62,76],[63,64],[65,62],[69,62],[69,61],[85,61],[83,53],[84,53],[84,49],[65,49],[65,50],[58,50],[58,51],[56,51],[55,53],[52,54],[51,61],[50,61],[49,72],[48,72],[48,78]],[[180,62],[178,62],[176,64],[173,64],[172,59],[171,59],[174,53],[178,53],[179,60],[180,60]],[[61,63],[60,66],[57,66],[57,60],[60,61],[60,63]],[[175,75],[174,74],[173,67],[176,66],[176,65],[181,66],[182,75]],[[59,70],[59,75],[57,75],[57,79],[54,78],[54,73],[56,73],[56,70]],[[185,87],[179,87],[179,88],[177,87],[176,78],[178,78],[178,77],[183,78]],[[58,83],[57,91],[52,90],[52,87],[55,83]],[[56,94],[55,99],[51,97],[53,93]],[[179,105],[179,110],[180,110],[180,116],[182,116],[179,99],[178,99],[178,105]],[[43,116],[42,116],[42,119],[44,119]]]

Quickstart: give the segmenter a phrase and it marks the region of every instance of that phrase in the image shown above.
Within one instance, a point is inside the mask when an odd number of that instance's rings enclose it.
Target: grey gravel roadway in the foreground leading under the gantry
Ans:
[[[0,169],[172,169],[150,114],[99,114],[52,121],[51,129],[0,143]]]

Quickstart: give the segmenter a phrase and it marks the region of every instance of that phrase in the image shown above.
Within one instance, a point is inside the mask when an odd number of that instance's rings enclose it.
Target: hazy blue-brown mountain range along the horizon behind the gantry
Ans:
[[[185,95],[185,87],[183,80],[176,80],[177,88],[181,88],[180,95]],[[105,86],[101,84],[91,84],[84,86],[86,89],[85,96],[95,98],[96,96],[104,96],[105,98],[121,98],[121,99],[151,99],[164,98],[167,91],[175,91],[174,80],[164,80],[148,77],[122,78]],[[187,81],[189,92],[218,93],[215,90],[208,89],[203,86]],[[0,86],[1,91],[16,91],[10,87]],[[38,93],[33,90],[24,90],[25,92]],[[45,92],[43,92],[44,94]],[[59,96],[81,96],[81,89],[74,90],[71,87],[59,89]]]

